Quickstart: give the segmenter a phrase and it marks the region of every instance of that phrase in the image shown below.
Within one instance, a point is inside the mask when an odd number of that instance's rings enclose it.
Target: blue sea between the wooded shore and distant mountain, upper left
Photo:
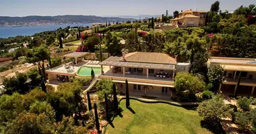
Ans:
[[[62,25],[43,25],[43,26],[31,26],[31,27],[0,27],[0,38],[9,38],[15,36],[32,36],[33,34],[40,33],[42,31],[55,30],[59,27],[65,28],[67,26],[92,26],[92,23],[79,23],[79,24],[62,24]]]

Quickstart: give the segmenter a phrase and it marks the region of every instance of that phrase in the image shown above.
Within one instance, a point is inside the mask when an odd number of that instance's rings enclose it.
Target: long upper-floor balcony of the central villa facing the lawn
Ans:
[[[147,77],[145,74],[139,73],[130,73],[130,74],[123,74],[123,73],[113,73],[112,70],[108,70],[108,72],[99,76],[99,78],[110,78],[113,80],[120,80],[125,81],[126,79],[129,82],[143,82],[149,84],[167,84],[173,85],[174,80],[172,78],[163,78],[163,77],[156,77],[154,74]]]

